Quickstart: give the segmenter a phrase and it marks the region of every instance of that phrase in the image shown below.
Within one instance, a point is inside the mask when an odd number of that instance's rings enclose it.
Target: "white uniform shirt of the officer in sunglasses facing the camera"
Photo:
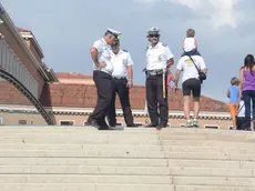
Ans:
[[[174,58],[169,46],[159,42],[155,47],[149,46],[146,51],[146,69],[161,70],[166,68],[166,62]]]

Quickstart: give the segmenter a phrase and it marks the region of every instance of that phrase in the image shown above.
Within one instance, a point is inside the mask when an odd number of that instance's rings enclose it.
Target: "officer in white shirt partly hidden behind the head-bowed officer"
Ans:
[[[116,125],[115,97],[118,93],[126,127],[135,127],[129,96],[129,89],[133,86],[133,60],[126,50],[120,49],[120,39],[116,39],[112,44],[111,61],[113,64],[113,91],[111,107],[108,112],[109,124],[110,127]]]

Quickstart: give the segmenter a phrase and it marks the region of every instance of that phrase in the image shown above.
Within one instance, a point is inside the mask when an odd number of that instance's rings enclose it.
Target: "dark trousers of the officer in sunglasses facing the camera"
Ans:
[[[146,99],[147,110],[151,119],[151,123],[166,127],[169,122],[169,102],[167,102],[167,88],[166,76],[165,80],[165,98],[163,97],[163,76],[149,76],[146,79]],[[157,104],[160,107],[160,113],[157,112]]]

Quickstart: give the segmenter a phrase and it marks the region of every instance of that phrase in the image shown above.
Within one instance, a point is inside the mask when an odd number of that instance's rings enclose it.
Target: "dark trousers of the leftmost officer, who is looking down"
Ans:
[[[102,121],[105,122],[105,115],[112,100],[112,76],[103,71],[94,71],[93,80],[98,89],[98,103],[94,108],[93,113],[90,115],[91,119],[96,120],[100,124]]]

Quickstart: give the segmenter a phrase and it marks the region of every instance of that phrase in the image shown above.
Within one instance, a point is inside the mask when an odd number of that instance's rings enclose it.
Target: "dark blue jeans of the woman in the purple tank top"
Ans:
[[[243,99],[244,99],[244,105],[245,105],[245,124],[249,124],[251,129],[251,101],[253,103],[253,121],[255,120],[255,91],[253,90],[246,90],[243,91]]]

